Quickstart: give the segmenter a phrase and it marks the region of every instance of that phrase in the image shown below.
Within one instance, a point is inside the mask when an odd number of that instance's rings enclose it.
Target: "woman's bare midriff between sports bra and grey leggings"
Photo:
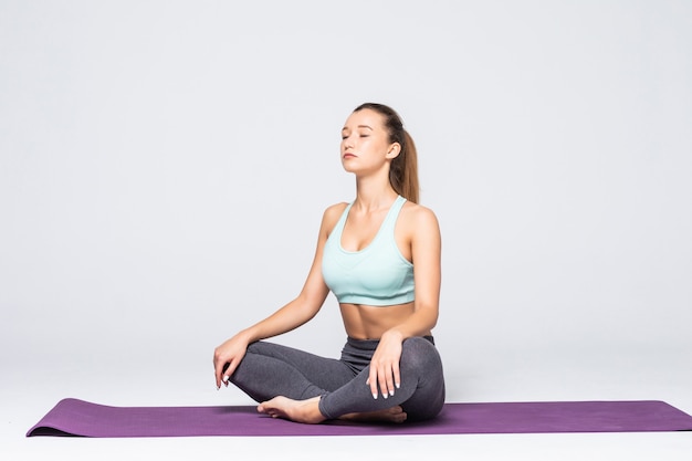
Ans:
[[[354,339],[379,339],[386,331],[406,322],[415,308],[412,302],[391,306],[342,303],[339,306],[346,334]]]

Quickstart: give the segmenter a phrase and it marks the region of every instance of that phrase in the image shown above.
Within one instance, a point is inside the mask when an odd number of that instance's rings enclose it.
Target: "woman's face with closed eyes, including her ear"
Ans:
[[[342,165],[347,171],[378,169],[399,154],[398,143],[389,142],[385,117],[365,108],[350,114],[342,129]]]

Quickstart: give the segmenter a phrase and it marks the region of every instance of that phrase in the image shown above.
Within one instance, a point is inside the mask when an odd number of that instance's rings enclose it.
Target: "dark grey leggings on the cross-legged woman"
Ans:
[[[397,405],[410,421],[436,417],[444,404],[444,378],[432,337],[403,342],[401,386],[386,399],[381,395],[374,399],[366,385],[378,343],[348,338],[339,360],[263,340],[252,343],[231,383],[259,402],[276,396],[296,400],[322,396],[319,411],[327,419]]]

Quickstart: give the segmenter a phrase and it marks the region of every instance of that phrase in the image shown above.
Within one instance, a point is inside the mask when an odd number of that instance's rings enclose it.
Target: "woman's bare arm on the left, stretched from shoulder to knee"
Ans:
[[[327,294],[329,294],[329,289],[322,277],[322,254],[329,231],[334,228],[337,219],[338,206],[329,207],[324,212],[315,258],[307,280],[297,297],[263,321],[239,332],[214,349],[213,367],[217,388],[221,387],[221,384],[228,386],[228,378],[244,357],[249,344],[295,329],[319,312]]]

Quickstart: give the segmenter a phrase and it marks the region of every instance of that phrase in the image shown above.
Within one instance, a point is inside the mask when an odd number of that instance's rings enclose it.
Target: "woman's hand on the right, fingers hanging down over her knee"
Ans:
[[[394,396],[395,389],[401,385],[399,375],[401,343],[401,335],[391,331],[386,332],[380,338],[370,360],[370,375],[367,380],[373,398],[377,398],[378,390],[381,391],[384,398]]]

